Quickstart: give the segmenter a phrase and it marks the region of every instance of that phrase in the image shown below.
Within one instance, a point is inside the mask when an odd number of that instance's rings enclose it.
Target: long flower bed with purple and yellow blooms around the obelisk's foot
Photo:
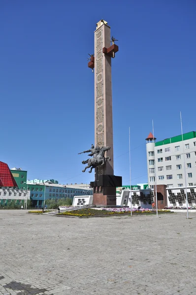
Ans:
[[[169,212],[169,210],[158,210],[158,212]],[[58,215],[66,215],[66,216],[76,216],[76,217],[90,217],[90,216],[106,216],[106,215],[125,215],[125,214],[130,214],[131,209],[130,208],[102,208],[101,210],[97,209],[80,209],[80,210],[73,210],[70,212],[63,212]],[[141,208],[140,210],[138,209],[132,209],[133,214],[155,214],[156,211],[153,211],[151,209],[145,209]]]

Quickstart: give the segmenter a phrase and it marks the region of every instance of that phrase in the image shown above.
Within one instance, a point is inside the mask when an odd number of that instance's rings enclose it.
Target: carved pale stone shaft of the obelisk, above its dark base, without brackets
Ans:
[[[110,147],[107,156],[111,161],[96,169],[98,175],[114,174],[111,57],[103,53],[110,40],[110,27],[99,21],[95,31],[95,146]]]

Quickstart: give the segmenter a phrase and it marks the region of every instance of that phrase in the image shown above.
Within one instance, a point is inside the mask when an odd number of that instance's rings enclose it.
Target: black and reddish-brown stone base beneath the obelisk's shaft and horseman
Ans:
[[[120,176],[100,175],[98,181],[91,182],[93,205],[97,207],[115,207],[117,186],[122,186],[122,177]]]

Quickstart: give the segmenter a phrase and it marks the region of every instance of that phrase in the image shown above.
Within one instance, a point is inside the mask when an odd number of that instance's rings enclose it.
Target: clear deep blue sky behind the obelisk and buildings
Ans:
[[[118,39],[112,60],[114,172],[147,181],[145,138],[196,130],[195,0],[1,0],[0,161],[28,178],[89,183],[82,173],[94,143],[96,23]]]

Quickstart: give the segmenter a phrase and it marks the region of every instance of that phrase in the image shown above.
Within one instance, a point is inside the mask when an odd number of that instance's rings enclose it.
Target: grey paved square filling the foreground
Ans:
[[[0,295],[195,295],[196,214],[0,210]]]

